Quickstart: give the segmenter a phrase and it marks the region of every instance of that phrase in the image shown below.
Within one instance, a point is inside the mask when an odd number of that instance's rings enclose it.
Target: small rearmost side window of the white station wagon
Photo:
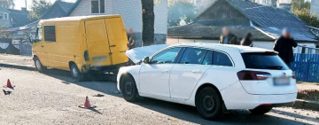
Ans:
[[[229,56],[227,56],[225,53],[214,51],[213,58],[213,65],[215,66],[233,66]]]

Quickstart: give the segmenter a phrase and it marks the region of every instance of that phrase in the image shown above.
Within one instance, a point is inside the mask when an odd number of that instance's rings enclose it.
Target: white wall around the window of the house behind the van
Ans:
[[[125,27],[134,32],[142,32],[141,0],[105,0],[104,14],[120,14]],[[104,15],[103,14],[103,15]],[[155,34],[167,34],[167,0],[160,0],[154,5]],[[74,9],[70,16],[95,15],[90,12],[90,0],[82,2]]]

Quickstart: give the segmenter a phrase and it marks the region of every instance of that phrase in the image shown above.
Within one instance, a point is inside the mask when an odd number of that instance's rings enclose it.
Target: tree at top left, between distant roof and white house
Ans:
[[[31,11],[28,13],[30,20],[39,20],[51,8],[48,0],[32,0]]]

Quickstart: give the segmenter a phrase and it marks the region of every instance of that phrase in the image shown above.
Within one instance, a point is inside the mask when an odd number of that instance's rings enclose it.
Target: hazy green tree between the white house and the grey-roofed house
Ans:
[[[180,20],[190,23],[196,17],[195,5],[189,2],[177,1],[168,6],[168,27],[178,26]]]

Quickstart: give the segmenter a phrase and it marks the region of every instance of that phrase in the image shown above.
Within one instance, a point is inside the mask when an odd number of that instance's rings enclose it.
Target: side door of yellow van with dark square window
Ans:
[[[43,26],[44,49],[46,51],[47,66],[58,67],[59,55],[56,40],[56,28],[54,25]]]

